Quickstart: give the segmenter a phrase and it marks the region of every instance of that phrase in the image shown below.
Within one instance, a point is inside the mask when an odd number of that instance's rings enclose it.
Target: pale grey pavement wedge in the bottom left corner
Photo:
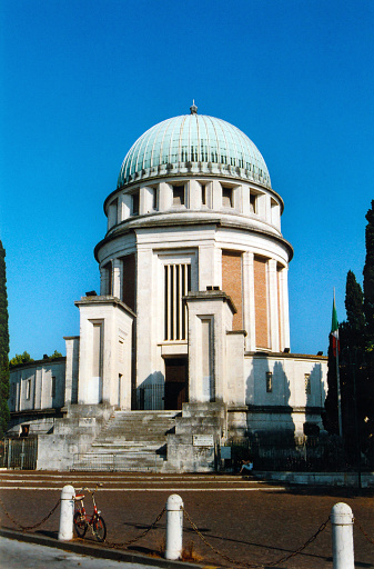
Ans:
[[[195,563],[169,561],[129,551],[58,541],[36,533],[0,529],[0,567],[7,569],[196,569]]]

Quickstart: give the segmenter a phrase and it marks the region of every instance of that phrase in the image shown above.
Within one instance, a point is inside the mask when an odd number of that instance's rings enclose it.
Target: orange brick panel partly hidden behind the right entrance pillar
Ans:
[[[229,295],[235,307],[232,328],[243,329],[243,287],[242,287],[242,254],[233,251],[222,251],[222,290]]]

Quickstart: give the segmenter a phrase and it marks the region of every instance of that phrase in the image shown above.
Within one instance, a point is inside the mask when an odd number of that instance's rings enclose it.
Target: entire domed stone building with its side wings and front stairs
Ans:
[[[283,207],[255,144],[195,104],[134,142],[80,337],[11,375],[9,435],[28,423],[38,468],[212,470],[232,440],[322,429],[326,358],[291,352]]]

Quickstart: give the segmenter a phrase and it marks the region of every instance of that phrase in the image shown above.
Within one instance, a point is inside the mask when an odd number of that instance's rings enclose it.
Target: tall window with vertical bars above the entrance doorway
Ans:
[[[182,298],[191,290],[191,264],[164,266],[164,339],[186,339],[186,306]]]

